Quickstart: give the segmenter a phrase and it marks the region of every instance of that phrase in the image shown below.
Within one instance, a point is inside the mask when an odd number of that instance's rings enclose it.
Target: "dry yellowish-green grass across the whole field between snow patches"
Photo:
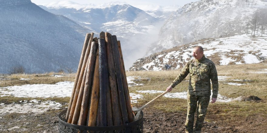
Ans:
[[[255,73],[261,69],[266,69],[266,63],[257,63],[257,64],[243,64],[243,65],[227,65],[227,66],[216,66],[218,76],[228,76],[227,80],[219,81],[219,93],[223,96],[229,98],[237,98],[239,96],[258,96],[262,100],[259,102],[243,102],[243,101],[232,101],[232,102],[216,102],[208,106],[208,112],[206,115],[206,122],[218,122],[218,123],[233,123],[236,121],[238,124],[239,121],[243,122],[247,119],[252,121],[257,118],[266,118],[267,117],[267,95],[266,95],[266,86],[267,86],[267,74],[266,73]],[[129,87],[130,93],[137,93],[137,90],[161,90],[165,91],[166,88],[172,83],[172,81],[179,74],[179,70],[169,70],[169,71],[130,71],[126,72],[127,76],[140,76],[141,80],[135,81],[136,83],[143,83],[143,86],[131,86]],[[38,76],[36,76],[38,75]],[[46,74],[13,74],[6,76],[5,78],[11,80],[0,81],[0,87],[5,86],[15,86],[15,85],[25,85],[25,84],[55,84],[60,81],[74,81],[75,74],[70,74],[70,76],[63,77],[54,77],[51,76],[52,73]],[[20,78],[27,78],[31,80],[19,80]],[[138,79],[138,78],[136,78]],[[150,79],[150,80],[148,80]],[[246,79],[243,81],[234,81],[232,79]],[[189,80],[187,77],[184,80]],[[234,86],[228,85],[226,83],[242,83],[245,85]],[[177,85],[172,93],[174,92],[183,92],[187,91],[188,82],[183,81]],[[1,95],[1,94],[0,94]],[[150,100],[154,99],[159,93],[156,94],[145,94],[142,93],[143,99],[137,99],[138,103],[134,103],[133,106],[141,107]],[[48,117],[49,114],[53,114],[56,119],[56,115],[67,106],[69,103],[69,97],[51,97],[51,98],[22,98],[14,96],[3,96],[0,97],[0,103],[11,104],[13,102],[19,103],[19,101],[24,100],[41,100],[47,101],[52,100],[63,104],[63,107],[60,110],[49,110],[48,112],[40,115],[42,117]],[[147,111],[161,110],[163,112],[172,113],[172,112],[181,112],[186,114],[187,111],[187,100],[178,99],[178,98],[166,98],[161,97],[153,104],[145,108]],[[21,115],[19,113],[11,113],[5,115],[4,118],[14,119]],[[27,115],[22,114],[22,115]],[[50,118],[47,118],[49,120]],[[262,123],[263,122],[263,123]],[[5,123],[5,122],[4,122]],[[49,123],[49,122],[48,122]],[[265,119],[261,119],[259,123],[267,123]],[[255,125],[259,124],[255,123]],[[0,123],[1,124],[1,123]],[[35,122],[34,125],[38,125],[40,122]],[[240,123],[242,124],[242,123]],[[2,124],[3,125],[3,124]],[[41,124],[42,125],[42,124]],[[254,126],[255,126],[254,125]],[[29,128],[28,125],[22,125],[22,127]],[[262,126],[262,125],[260,125]],[[40,131],[42,127],[38,129],[32,129],[33,131]]]

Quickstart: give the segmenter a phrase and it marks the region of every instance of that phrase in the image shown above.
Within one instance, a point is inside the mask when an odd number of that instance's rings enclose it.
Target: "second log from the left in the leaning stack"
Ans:
[[[79,90],[80,90],[80,87],[81,87],[81,82],[83,80],[82,77],[83,77],[84,70],[85,70],[85,67],[86,67],[86,62],[88,60],[88,55],[90,54],[90,48],[91,48],[91,43],[92,43],[92,40],[93,40],[93,36],[94,36],[94,33],[91,33],[90,34],[90,39],[88,41],[88,45],[87,45],[87,48],[86,48],[85,56],[84,56],[84,59],[83,59],[83,65],[81,67],[81,72],[80,72],[79,79],[78,79],[78,82],[77,82],[77,86],[76,86],[76,89],[75,89],[75,93],[74,93],[74,96],[73,96],[73,102],[72,102],[72,106],[71,106],[71,109],[70,109],[70,112],[69,112],[68,123],[71,123],[72,119],[73,119],[73,113],[75,111],[76,102],[77,102],[78,95],[79,95]]]

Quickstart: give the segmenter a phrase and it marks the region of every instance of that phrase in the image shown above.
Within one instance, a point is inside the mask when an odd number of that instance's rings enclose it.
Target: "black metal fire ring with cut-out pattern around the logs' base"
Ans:
[[[67,110],[59,113],[59,133],[143,133],[143,112],[135,116],[135,121],[123,125],[90,127],[67,123]]]

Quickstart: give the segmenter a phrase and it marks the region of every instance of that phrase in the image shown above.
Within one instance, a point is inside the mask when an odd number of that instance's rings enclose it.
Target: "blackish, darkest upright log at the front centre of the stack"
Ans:
[[[108,82],[106,45],[103,38],[98,39],[99,44],[99,103],[100,126],[107,126],[106,88]]]

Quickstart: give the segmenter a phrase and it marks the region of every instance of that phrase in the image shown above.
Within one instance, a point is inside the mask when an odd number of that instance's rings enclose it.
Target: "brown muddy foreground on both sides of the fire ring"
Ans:
[[[64,109],[49,110],[41,114],[10,113],[0,115],[1,133],[53,133],[58,132],[57,115]],[[216,110],[216,109],[214,109]],[[144,109],[144,133],[183,133],[186,112],[163,112],[157,109]],[[224,122],[212,110],[207,119],[216,122],[204,122],[203,133],[254,133],[266,132],[266,118],[235,118],[235,121]]]

